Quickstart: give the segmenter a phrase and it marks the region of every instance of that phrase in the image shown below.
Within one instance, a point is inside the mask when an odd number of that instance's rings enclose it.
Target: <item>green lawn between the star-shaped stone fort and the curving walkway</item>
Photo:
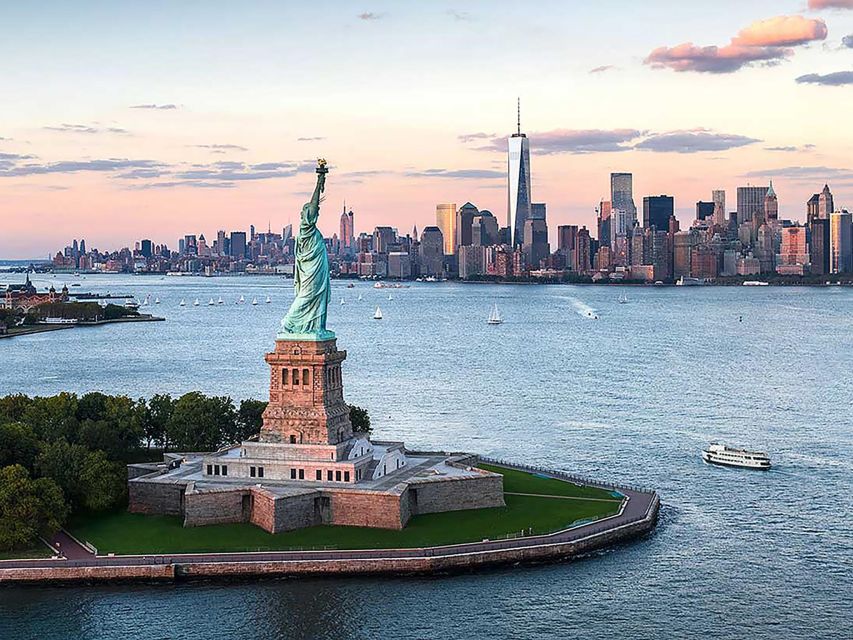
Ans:
[[[517,534],[529,528],[534,534],[550,533],[580,520],[612,515],[621,503],[610,492],[601,489],[578,487],[493,466],[483,467],[504,474],[506,491],[560,497],[506,495],[506,507],[414,516],[402,531],[319,526],[273,535],[251,524],[185,529],[180,517],[126,512],[86,516],[72,522],[70,529],[78,538],[94,544],[100,554],[269,551],[312,547],[405,548],[478,542],[484,538]],[[566,500],[566,497],[604,498],[607,501]]]

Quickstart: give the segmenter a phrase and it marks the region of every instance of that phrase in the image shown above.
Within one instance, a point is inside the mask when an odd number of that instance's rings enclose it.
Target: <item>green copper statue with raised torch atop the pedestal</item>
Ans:
[[[326,329],[326,313],[331,297],[329,256],[323,234],[317,228],[320,217],[320,194],[326,186],[325,160],[317,161],[317,186],[311,201],[302,207],[299,232],[296,235],[294,287],[296,299],[281,321],[278,340],[331,340],[333,331]]]

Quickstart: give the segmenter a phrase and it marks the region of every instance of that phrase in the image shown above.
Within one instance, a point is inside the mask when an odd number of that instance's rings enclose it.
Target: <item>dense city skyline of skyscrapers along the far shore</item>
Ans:
[[[598,282],[694,281],[762,274],[821,276],[853,270],[850,214],[834,210],[828,185],[806,203],[804,224],[779,217],[779,197],[767,187],[737,189],[737,211],[726,212],[726,192],[695,203],[692,223],[681,229],[675,198],[645,196],[638,219],[633,175],[610,174],[610,200],[595,208],[598,237],[585,227],[560,225],[552,243],[548,206],[530,200],[529,140],[520,122],[509,137],[507,226],[473,202],[436,205],[435,226],[419,235],[378,225],[357,233],[355,214],[344,204],[339,231],[326,239],[332,273],[341,277],[394,280],[459,278],[574,279]],[[281,233],[224,230],[208,243],[187,234],[178,250],[145,238],[133,250],[87,251],[74,240],[53,258],[57,270],[292,275],[295,239]]]

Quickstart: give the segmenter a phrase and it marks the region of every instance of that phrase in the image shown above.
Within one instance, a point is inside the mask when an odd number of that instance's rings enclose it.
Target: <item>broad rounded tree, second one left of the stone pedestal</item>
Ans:
[[[169,419],[169,445],[181,451],[212,451],[236,433],[237,412],[227,396],[206,397],[198,391],[178,398]]]

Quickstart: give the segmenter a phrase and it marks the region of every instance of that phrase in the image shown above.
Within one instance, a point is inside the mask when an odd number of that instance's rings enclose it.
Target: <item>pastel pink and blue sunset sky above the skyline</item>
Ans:
[[[853,0],[4,3],[0,258],[297,222],[505,220],[506,136],[534,202],[594,227],[634,199],[772,179],[782,217],[829,183],[853,207]]]

